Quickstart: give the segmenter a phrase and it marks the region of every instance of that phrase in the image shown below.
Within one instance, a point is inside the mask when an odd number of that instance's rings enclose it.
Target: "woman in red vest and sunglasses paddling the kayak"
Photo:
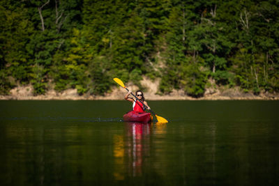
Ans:
[[[136,100],[135,98],[130,98],[129,95],[130,93],[132,93],[131,91],[129,91],[126,95],[125,95],[125,100],[128,100],[129,102],[133,102],[133,111],[137,111],[137,112],[144,112],[145,108],[144,105],[141,103],[143,102],[147,109],[150,109],[150,107],[148,106],[147,102],[145,101],[144,98],[144,93],[142,93],[142,91],[136,91],[135,92],[135,96],[137,97],[138,100]]]

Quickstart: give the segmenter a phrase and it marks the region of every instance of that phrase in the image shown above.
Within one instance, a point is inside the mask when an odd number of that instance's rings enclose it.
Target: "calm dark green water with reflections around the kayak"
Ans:
[[[278,101],[0,101],[0,185],[278,185]]]

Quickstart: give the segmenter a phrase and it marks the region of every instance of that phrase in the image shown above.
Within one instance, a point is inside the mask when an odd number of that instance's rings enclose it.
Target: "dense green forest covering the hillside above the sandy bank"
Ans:
[[[1,0],[0,94],[76,88],[104,95],[113,77],[158,94],[204,95],[209,79],[279,92],[279,1]]]

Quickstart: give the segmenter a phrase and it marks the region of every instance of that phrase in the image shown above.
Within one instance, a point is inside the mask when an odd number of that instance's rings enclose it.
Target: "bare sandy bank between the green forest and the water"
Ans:
[[[154,83],[156,84],[156,82]],[[156,87],[149,84],[151,87]],[[137,90],[137,86],[129,84],[130,90]],[[279,100],[279,94],[260,93],[243,93],[239,88],[234,89],[212,89],[207,88],[202,98],[192,98],[183,91],[174,90],[169,95],[156,94],[156,88],[146,88],[144,97],[146,100]],[[54,90],[47,91],[45,95],[33,95],[32,86],[21,86],[13,88],[10,95],[0,95],[0,100],[123,100],[127,91],[123,88],[113,88],[110,93],[105,95],[78,95],[76,89],[68,89],[61,93]]]

